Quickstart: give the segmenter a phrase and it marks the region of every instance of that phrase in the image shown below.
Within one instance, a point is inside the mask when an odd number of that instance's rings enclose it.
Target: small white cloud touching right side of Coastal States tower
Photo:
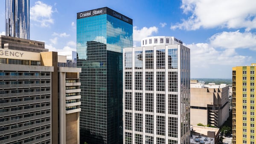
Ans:
[[[157,33],[158,32],[158,28],[153,26],[150,28],[147,27],[143,27],[142,29],[138,29],[137,26],[133,27],[133,40],[140,42],[140,40],[142,40],[145,37],[149,37],[152,36],[153,33]]]

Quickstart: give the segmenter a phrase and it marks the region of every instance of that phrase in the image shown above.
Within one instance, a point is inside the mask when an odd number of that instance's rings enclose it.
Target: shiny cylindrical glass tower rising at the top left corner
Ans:
[[[6,36],[29,40],[29,0],[6,0]]]

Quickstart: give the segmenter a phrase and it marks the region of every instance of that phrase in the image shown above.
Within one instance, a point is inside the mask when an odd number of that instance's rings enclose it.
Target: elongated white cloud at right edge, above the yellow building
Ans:
[[[256,50],[256,34],[250,32],[241,33],[240,31],[223,31],[214,34],[209,38],[214,47],[219,48],[250,48]]]

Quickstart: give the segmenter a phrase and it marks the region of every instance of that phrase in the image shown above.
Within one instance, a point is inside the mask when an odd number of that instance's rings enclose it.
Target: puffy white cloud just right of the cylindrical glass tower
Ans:
[[[42,27],[49,27],[50,24],[54,23],[52,13],[55,11],[52,10],[52,6],[41,1],[37,1],[35,2],[35,6],[30,8],[30,19],[41,23],[40,25]]]

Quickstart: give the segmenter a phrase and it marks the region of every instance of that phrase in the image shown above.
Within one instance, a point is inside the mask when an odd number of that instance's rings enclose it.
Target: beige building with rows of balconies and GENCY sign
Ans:
[[[58,67],[65,62],[0,48],[0,144],[79,144],[81,68]]]

